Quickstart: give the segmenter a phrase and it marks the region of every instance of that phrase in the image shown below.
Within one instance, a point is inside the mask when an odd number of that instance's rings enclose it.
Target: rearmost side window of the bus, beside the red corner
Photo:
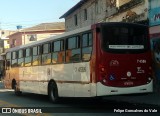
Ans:
[[[82,60],[88,61],[92,51],[92,34],[86,33],[82,35]]]

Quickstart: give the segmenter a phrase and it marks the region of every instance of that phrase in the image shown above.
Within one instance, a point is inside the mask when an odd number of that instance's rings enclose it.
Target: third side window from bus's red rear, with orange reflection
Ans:
[[[52,63],[63,63],[65,60],[64,40],[55,41],[52,46]]]

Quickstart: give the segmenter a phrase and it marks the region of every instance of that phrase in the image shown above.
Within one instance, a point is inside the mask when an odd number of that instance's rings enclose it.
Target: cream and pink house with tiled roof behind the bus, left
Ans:
[[[10,48],[46,39],[65,32],[64,22],[42,23],[31,28],[20,29],[8,36]]]

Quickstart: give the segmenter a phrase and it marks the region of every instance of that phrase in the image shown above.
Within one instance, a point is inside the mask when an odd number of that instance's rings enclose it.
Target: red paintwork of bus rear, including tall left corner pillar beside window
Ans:
[[[152,80],[150,50],[138,54],[108,53],[101,47],[101,36],[100,32],[96,31],[96,25],[92,26],[92,29],[92,82],[101,82],[111,87],[132,87],[145,85]]]

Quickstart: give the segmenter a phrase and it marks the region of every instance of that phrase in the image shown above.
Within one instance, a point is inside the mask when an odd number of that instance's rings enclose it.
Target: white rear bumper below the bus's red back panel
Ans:
[[[145,85],[135,87],[109,87],[97,83],[97,96],[134,94],[134,93],[150,93],[153,92],[153,80]]]

